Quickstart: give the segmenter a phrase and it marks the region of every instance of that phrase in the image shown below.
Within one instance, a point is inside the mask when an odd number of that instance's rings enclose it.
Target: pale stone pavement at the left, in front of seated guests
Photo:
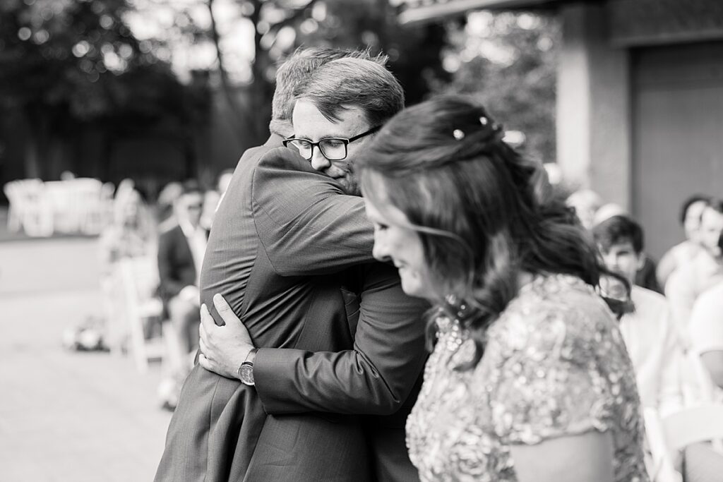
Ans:
[[[171,415],[160,367],[65,350],[100,314],[97,241],[0,243],[0,481],[151,481]]]

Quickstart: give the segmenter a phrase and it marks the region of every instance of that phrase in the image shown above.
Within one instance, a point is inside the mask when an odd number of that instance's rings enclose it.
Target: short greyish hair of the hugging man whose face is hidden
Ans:
[[[291,121],[291,112],[294,110],[294,89],[299,84],[307,82],[311,74],[320,66],[346,57],[365,59],[381,65],[387,61],[387,56],[382,54],[372,56],[369,49],[297,48],[283,64],[278,66],[276,71],[276,88],[271,101],[272,123],[273,121]]]

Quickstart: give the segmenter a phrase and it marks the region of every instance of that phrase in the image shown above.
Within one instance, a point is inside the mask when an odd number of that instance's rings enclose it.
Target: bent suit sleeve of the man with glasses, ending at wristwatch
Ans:
[[[364,286],[354,350],[259,350],[254,379],[267,413],[387,415],[401,408],[427,358],[422,314],[428,305],[403,293],[393,267],[370,269],[382,276]]]

